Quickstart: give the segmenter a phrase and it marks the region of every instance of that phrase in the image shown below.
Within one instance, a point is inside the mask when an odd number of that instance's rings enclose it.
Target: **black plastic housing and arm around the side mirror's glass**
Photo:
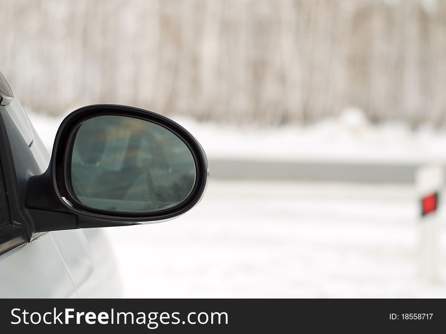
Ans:
[[[73,142],[80,126],[100,116],[123,116],[151,122],[177,136],[189,149],[195,163],[195,181],[189,195],[176,205],[151,212],[110,211],[83,205],[73,194],[70,175]],[[183,127],[157,113],[124,105],[96,104],[69,114],[61,123],[45,173],[32,176],[25,206],[32,218],[30,234],[78,228],[124,226],[160,222],[177,217],[200,202],[206,190],[209,165],[200,143]]]

